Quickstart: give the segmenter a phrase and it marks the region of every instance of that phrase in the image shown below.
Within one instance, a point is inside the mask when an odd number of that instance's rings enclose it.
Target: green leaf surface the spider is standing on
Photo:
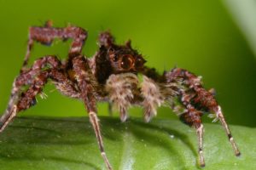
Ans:
[[[101,117],[105,149],[113,169],[201,169],[194,129],[182,122]],[[221,125],[205,124],[203,169],[254,169],[255,128],[230,126],[236,157]],[[19,117],[1,133],[2,170],[106,169],[87,117]]]

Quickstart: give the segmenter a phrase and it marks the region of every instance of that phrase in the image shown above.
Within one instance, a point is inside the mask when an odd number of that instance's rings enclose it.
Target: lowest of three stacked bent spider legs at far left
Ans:
[[[72,82],[69,81],[67,76],[55,69],[47,69],[45,71],[40,71],[36,77],[31,77],[32,80],[26,79],[26,74],[21,74],[20,77],[17,77],[19,80],[15,82],[19,87],[24,85],[29,85],[30,87],[26,92],[17,94],[17,101],[14,105],[9,105],[9,112],[1,117],[1,126],[0,133],[3,132],[4,128],[9,124],[9,122],[16,116],[20,111],[24,111],[30,108],[32,105],[36,105],[36,95],[42,93],[44,84],[50,78],[53,82],[56,83],[56,86],[62,94],[66,94],[69,97],[79,98],[79,92],[74,88]],[[27,81],[26,81],[27,80]]]

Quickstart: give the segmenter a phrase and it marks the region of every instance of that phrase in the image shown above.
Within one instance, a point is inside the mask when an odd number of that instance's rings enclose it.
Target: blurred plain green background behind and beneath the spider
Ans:
[[[109,29],[120,43],[131,38],[132,46],[158,71],[177,65],[201,75],[206,88],[216,89],[227,122],[256,127],[256,58],[243,36],[246,34],[229,11],[227,3],[213,0],[0,0],[0,111],[4,111],[12,82],[20,71],[28,27],[53,20],[54,26],[71,23],[89,31],[84,46],[87,56],[96,52],[101,31]],[[252,17],[256,19],[256,15]],[[68,47],[62,42],[55,42],[51,48],[37,44],[31,61],[45,54],[65,59]],[[38,105],[22,116],[86,116],[81,102],[53,89],[48,85],[44,92],[49,98],[38,98]],[[99,104],[98,108],[100,116],[108,115],[108,105]],[[130,112],[131,116],[143,115],[140,108]],[[158,117],[177,119],[164,107],[159,109]]]

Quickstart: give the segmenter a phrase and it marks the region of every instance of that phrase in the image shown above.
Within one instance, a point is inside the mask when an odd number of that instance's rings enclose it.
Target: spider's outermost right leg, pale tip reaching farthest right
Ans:
[[[165,76],[167,82],[172,82],[173,79],[177,77],[183,78],[183,83],[189,89],[195,92],[195,97],[193,99],[194,105],[197,105],[199,110],[212,111],[216,114],[216,116],[222,123],[225,132],[227,133],[227,136],[230,140],[230,144],[232,145],[233,150],[235,151],[235,155],[240,156],[241,153],[238,150],[236,142],[231,135],[228,124],[225,122],[224,115],[221,111],[220,106],[218,105],[218,102],[214,98],[211,90],[207,91],[205,88],[202,87],[200,77],[196,77],[193,73],[180,68],[175,68],[172,71],[167,72]]]

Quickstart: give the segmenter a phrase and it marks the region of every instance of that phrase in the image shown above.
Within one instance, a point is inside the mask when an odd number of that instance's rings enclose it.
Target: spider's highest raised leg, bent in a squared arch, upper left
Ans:
[[[26,65],[31,54],[34,42],[41,42],[45,45],[50,45],[55,38],[60,38],[65,41],[69,38],[73,39],[68,56],[72,59],[74,56],[81,54],[84,42],[87,37],[87,31],[77,26],[67,26],[64,28],[52,27],[50,22],[45,26],[32,26],[29,28],[28,42],[26,48],[26,56],[21,68],[21,71],[26,71]]]

